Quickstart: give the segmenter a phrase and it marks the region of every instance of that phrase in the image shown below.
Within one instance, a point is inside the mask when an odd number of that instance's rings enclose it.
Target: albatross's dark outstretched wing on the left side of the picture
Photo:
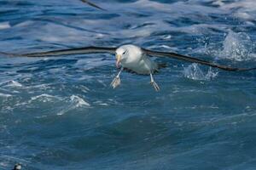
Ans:
[[[24,56],[24,57],[45,57],[45,56],[57,56],[57,55],[71,55],[71,54],[96,54],[96,53],[109,53],[114,54],[116,48],[102,48],[102,47],[84,47],[84,48],[67,48],[46,52],[38,52],[31,54],[8,54],[1,52],[0,54],[9,56]]]

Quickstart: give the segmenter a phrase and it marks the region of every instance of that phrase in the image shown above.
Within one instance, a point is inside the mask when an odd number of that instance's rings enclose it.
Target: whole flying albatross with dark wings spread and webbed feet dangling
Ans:
[[[173,52],[161,52],[154,51],[146,48],[140,48],[136,45],[127,44],[122,45],[119,48],[112,47],[84,47],[84,48],[66,48],[60,50],[52,50],[47,52],[38,52],[31,54],[7,54],[1,52],[0,54],[5,54],[9,56],[23,56],[23,57],[46,57],[46,56],[58,56],[58,55],[71,55],[71,54],[97,54],[97,53],[108,53],[115,54],[116,62],[115,65],[119,68],[118,74],[113,78],[110,85],[113,88],[117,88],[120,84],[120,74],[122,71],[132,71],[139,75],[148,75],[150,77],[150,84],[154,87],[156,91],[160,91],[160,87],[154,81],[154,73],[159,72],[160,68],[165,67],[165,65],[155,62],[150,57],[167,57],[171,59],[179,59],[187,61],[190,63],[198,63],[201,65],[208,65],[214,68],[218,68],[224,71],[252,71],[256,70],[254,68],[236,68],[226,65],[218,65],[211,61],[197,59],[183,54],[177,54]]]

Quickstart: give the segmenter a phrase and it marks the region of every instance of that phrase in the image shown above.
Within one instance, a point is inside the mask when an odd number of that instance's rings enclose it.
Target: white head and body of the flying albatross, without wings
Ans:
[[[120,64],[137,74],[154,73],[158,70],[158,65],[149,59],[143,50],[135,45],[123,45],[116,50],[116,54],[121,55]]]

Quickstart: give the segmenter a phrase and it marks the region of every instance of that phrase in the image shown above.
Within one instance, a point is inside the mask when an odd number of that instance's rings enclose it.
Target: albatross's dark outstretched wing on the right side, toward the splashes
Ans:
[[[168,52],[160,52],[160,51],[152,51],[152,50],[148,50],[145,48],[142,48],[145,54],[148,55],[152,55],[152,56],[157,56],[157,57],[168,57],[168,58],[172,58],[172,59],[179,59],[179,60],[184,60],[184,61],[188,61],[191,63],[199,63],[201,65],[209,65],[212,67],[216,67],[218,69],[222,69],[224,71],[251,71],[251,70],[256,70],[255,68],[236,68],[236,67],[230,67],[230,66],[226,66],[226,65],[218,65],[218,64],[214,64],[212,62],[203,60],[203,59],[196,59],[193,57],[189,57],[186,55],[182,55],[182,54],[176,54],[176,53],[168,53]]]

